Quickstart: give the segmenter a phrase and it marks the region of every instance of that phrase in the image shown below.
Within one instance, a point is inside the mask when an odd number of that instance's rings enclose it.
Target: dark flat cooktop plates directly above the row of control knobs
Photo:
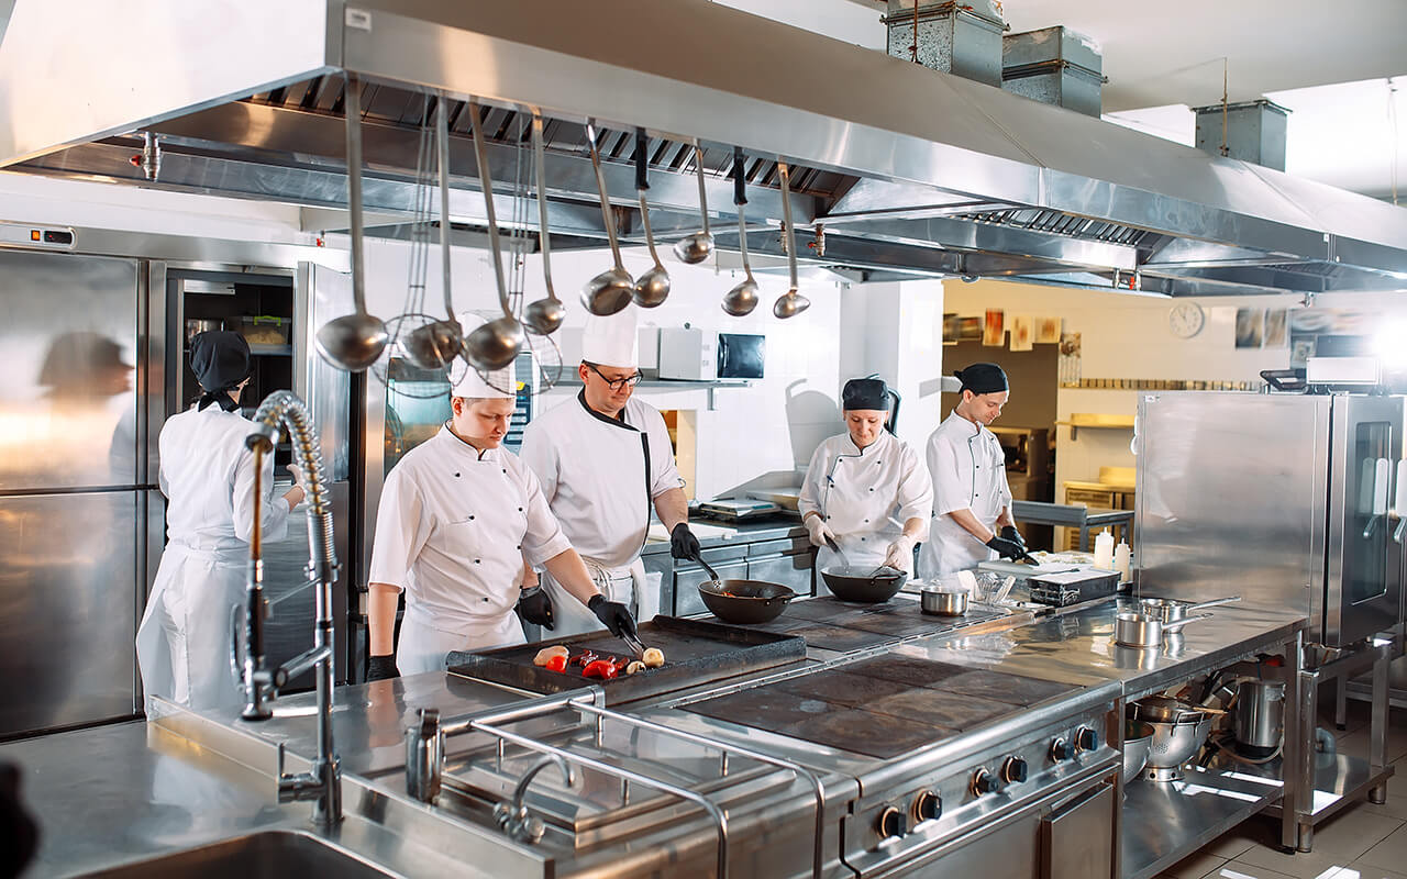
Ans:
[[[681,707],[889,759],[1072,689],[947,662],[875,657]]]

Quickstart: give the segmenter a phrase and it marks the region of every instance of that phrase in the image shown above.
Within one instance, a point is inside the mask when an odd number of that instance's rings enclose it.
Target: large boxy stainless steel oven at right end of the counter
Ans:
[[[1300,610],[1330,647],[1401,620],[1403,398],[1145,394],[1135,433],[1141,595]]]

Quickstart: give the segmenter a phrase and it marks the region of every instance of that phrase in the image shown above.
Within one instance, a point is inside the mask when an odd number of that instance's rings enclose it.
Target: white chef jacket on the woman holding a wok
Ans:
[[[850,564],[872,567],[884,563],[905,522],[931,515],[933,484],[909,443],[882,430],[861,450],[847,432],[829,437],[810,456],[796,509],[826,519]],[[840,561],[822,546],[816,564],[825,571]]]

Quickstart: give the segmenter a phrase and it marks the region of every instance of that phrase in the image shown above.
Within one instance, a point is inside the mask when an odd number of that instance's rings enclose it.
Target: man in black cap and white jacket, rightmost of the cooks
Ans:
[[[974,363],[954,376],[962,383],[961,399],[929,437],[933,523],[919,554],[924,579],[996,556],[1019,558],[1026,550],[1012,519],[1006,456],[988,430],[1010,397],[1006,373],[995,363]]]

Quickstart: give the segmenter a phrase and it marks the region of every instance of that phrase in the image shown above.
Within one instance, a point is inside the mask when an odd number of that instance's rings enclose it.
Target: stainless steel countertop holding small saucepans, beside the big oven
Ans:
[[[1128,601],[1104,602],[1000,631],[957,631],[912,641],[895,653],[1064,684],[1092,686],[1119,681],[1124,698],[1134,699],[1202,669],[1272,651],[1309,624],[1304,616],[1289,612],[1224,605],[1204,610],[1211,619],[1186,626],[1180,639],[1134,650],[1114,644],[1114,622]]]

